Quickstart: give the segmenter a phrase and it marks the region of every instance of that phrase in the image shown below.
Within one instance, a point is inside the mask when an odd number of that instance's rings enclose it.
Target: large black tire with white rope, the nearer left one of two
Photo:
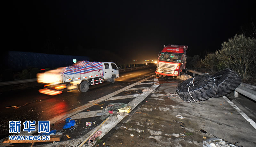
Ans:
[[[176,87],[180,98],[186,102],[200,102],[217,93],[217,86],[211,76],[203,75],[183,81]]]

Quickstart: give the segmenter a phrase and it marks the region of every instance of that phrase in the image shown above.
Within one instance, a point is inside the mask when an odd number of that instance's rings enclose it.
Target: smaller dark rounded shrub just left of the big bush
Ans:
[[[201,59],[201,62],[211,73],[214,73],[217,70],[217,58],[214,53],[208,53],[204,60]]]

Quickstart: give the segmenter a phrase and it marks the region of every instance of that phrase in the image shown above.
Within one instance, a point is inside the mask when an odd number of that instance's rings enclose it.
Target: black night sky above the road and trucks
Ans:
[[[189,56],[202,56],[256,18],[255,3],[247,0],[36,0],[2,6],[7,50],[78,56],[104,50],[128,60],[156,59],[168,44],[188,45]]]

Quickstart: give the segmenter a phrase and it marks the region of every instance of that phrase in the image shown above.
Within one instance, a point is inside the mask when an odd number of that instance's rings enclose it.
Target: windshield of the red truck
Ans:
[[[161,52],[161,55],[158,59],[159,61],[181,62],[182,55],[183,53]]]

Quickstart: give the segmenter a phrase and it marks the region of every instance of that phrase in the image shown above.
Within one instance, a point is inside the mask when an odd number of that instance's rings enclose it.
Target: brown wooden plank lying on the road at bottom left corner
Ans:
[[[39,143],[39,142],[54,142],[60,141],[62,135],[51,135],[50,140],[9,140],[9,138],[4,139],[3,143]]]

